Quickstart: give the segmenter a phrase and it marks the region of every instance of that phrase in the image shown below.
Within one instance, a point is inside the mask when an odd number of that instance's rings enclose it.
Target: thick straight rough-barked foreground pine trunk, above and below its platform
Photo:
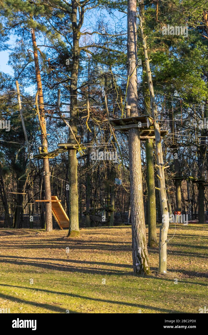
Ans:
[[[128,0],[127,9],[127,105],[131,106],[131,116],[138,116],[137,108],[137,30],[136,30],[136,0]],[[141,152],[139,130],[128,131],[130,199],[132,222],[132,259],[135,274],[150,273],[146,245],[146,229],[144,219],[144,204],[142,191]]]

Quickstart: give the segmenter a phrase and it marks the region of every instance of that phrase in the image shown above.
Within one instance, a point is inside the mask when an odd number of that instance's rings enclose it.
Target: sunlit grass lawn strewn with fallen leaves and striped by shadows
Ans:
[[[174,231],[171,225],[168,238]],[[0,308],[199,313],[208,306],[207,224],[177,225],[168,243],[168,271],[175,274],[165,277],[157,272],[158,248],[148,248],[152,274],[133,275],[131,227],[84,228],[79,239],[66,235],[67,230],[0,229]]]

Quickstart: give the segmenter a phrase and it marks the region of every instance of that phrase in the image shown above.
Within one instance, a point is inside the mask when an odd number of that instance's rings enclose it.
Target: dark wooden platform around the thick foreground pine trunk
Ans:
[[[153,119],[149,115],[110,120],[110,124],[119,132],[127,132],[129,129],[138,128],[141,140],[145,140],[147,138],[155,139]],[[167,133],[167,130],[161,130],[161,137],[163,138]]]

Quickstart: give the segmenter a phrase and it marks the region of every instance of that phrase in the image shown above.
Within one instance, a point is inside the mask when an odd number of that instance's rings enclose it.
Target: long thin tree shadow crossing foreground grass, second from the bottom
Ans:
[[[124,305],[124,306],[129,306],[129,307],[136,307],[136,308],[144,308],[144,309],[150,309],[153,311],[159,311],[161,313],[183,313],[180,311],[175,311],[175,310],[168,310],[165,308],[159,308],[159,307],[153,307],[153,306],[146,306],[146,305],[141,305],[141,304],[132,304],[132,303],[127,303],[127,302],[122,302],[122,301],[115,301],[115,300],[106,300],[106,299],[99,299],[99,298],[92,298],[89,296],[84,296],[84,295],[79,295],[79,294],[74,294],[74,293],[66,293],[66,292],[59,292],[59,291],[50,291],[46,289],[41,289],[41,288],[33,288],[33,287],[26,287],[26,286],[15,286],[15,285],[7,285],[7,284],[0,284],[0,286],[6,286],[6,287],[15,287],[15,288],[24,288],[24,289],[29,289],[29,290],[35,290],[35,291],[40,291],[40,292],[45,292],[45,293],[52,293],[52,294],[61,294],[61,295],[66,295],[74,298],[81,298],[81,299],[86,299],[86,300],[94,300],[97,302],[102,302],[102,303],[110,303],[110,304],[116,304],[116,305]],[[1,294],[0,294],[1,296]],[[7,297],[7,299],[11,299],[10,296],[5,296],[2,294],[3,297]],[[14,297],[14,300],[16,301],[17,299]],[[19,299],[21,300],[21,299]],[[24,302],[24,300],[21,300],[21,302]],[[28,302],[31,303],[31,302]],[[35,303],[32,303],[32,305],[38,305]],[[40,304],[44,305],[44,304]],[[50,306],[50,305],[49,305]],[[53,307],[53,306],[52,306]],[[63,309],[61,309],[63,310]],[[66,313],[66,310],[65,310]],[[76,313],[76,312],[71,312],[71,313]]]

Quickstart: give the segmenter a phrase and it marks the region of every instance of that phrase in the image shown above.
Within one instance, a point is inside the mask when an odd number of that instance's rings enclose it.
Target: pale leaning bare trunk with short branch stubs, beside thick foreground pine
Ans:
[[[160,203],[161,203],[161,211],[162,211],[162,224],[160,228],[160,243],[159,243],[159,272],[166,273],[167,272],[167,235],[168,235],[168,227],[169,227],[169,215],[168,215],[168,203],[166,196],[166,186],[165,186],[165,168],[166,164],[163,162],[163,151],[162,151],[162,138],[160,135],[160,127],[158,123],[158,111],[157,105],[155,103],[154,98],[154,90],[151,78],[151,71],[149,67],[149,58],[147,54],[147,45],[146,38],[144,37],[143,26],[142,26],[142,17],[141,10],[139,8],[139,27],[141,33],[141,41],[142,47],[144,51],[144,58],[146,63],[146,74],[147,81],[149,86],[150,93],[150,102],[152,109],[152,118],[154,120],[154,135],[155,135],[155,146],[157,153],[157,168],[158,168],[158,184],[159,184],[159,194],[160,194]]]

